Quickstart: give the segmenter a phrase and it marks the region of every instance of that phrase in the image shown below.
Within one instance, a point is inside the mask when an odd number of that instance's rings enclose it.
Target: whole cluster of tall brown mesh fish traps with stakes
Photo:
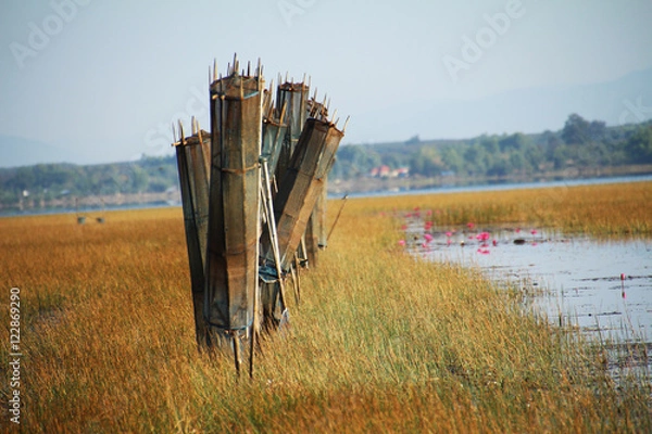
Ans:
[[[299,268],[326,247],[327,175],[346,123],[309,90],[305,77],[265,89],[260,61],[251,74],[234,58],[226,77],[210,73],[211,131],[195,118],[188,137],[173,125],[197,342],[230,343],[238,372],[243,342],[253,374],[256,336],[287,321],[286,280],[299,299]]]

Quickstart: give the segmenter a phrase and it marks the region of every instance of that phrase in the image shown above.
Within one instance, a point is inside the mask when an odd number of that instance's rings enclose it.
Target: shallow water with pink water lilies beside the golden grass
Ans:
[[[649,240],[598,241],[531,227],[425,230],[411,217],[405,245],[414,255],[475,267],[518,288],[526,308],[612,348],[612,370],[652,368]],[[632,354],[632,345],[643,349]]]

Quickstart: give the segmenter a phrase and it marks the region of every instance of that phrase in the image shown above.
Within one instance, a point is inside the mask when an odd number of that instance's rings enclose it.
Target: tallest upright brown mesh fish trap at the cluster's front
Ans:
[[[212,165],[204,316],[211,326],[252,326],[259,284],[262,140],[260,65],[254,76],[211,84]]]

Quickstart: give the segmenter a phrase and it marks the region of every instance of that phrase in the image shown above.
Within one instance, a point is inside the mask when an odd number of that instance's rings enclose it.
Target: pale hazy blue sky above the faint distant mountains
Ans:
[[[267,81],[311,76],[351,115],[344,143],[405,140],[355,117],[616,79],[652,67],[650,23],[650,0],[4,0],[0,135],[84,162],[170,153],[171,122],[209,129],[209,66],[237,52]]]

